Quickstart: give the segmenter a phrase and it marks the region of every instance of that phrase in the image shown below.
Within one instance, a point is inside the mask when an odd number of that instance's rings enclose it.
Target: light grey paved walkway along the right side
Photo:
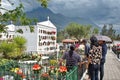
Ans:
[[[117,56],[110,50],[108,50],[106,56],[106,63],[104,67],[104,79],[103,80],[120,80],[120,60]],[[87,75],[83,80],[87,80]]]

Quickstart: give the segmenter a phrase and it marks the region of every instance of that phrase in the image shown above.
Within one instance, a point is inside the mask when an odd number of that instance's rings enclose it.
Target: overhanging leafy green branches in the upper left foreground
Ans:
[[[11,4],[11,6],[15,4],[12,2],[12,0],[7,0],[7,1]],[[21,0],[19,1],[21,2]],[[37,1],[39,1],[41,6],[44,8],[48,6],[49,0],[37,0]],[[5,31],[4,28],[7,25],[7,23],[9,23],[10,21],[12,21],[14,24],[20,23],[21,25],[30,25],[31,23],[36,21],[36,19],[29,19],[26,17],[22,2],[14,10],[3,8],[1,6],[1,2],[2,0],[0,0],[0,9],[5,10],[6,12],[4,14],[0,12],[0,27],[2,27],[0,28],[0,32]]]

